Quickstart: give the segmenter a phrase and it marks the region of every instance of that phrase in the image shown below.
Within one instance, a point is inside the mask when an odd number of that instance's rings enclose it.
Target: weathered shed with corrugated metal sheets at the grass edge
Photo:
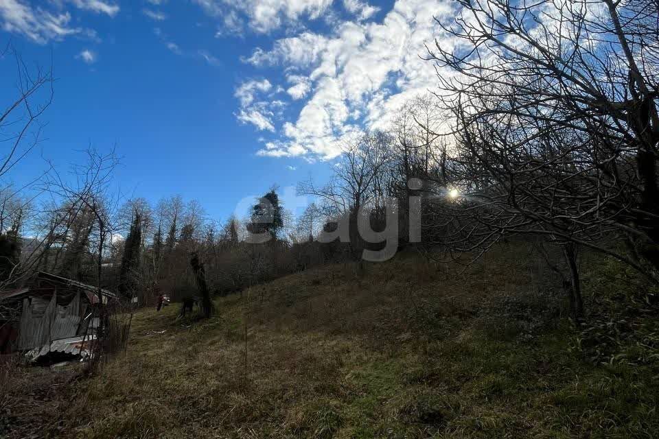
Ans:
[[[38,272],[29,286],[0,292],[0,353],[58,346],[57,340],[93,337],[95,307],[118,300],[113,292],[47,272]]]

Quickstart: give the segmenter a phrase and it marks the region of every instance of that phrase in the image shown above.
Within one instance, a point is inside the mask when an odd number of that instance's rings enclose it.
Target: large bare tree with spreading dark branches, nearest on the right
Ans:
[[[440,22],[454,49],[428,48],[467,191],[446,242],[535,233],[570,267],[577,244],[659,278],[656,4],[457,3]],[[607,244],[620,238],[636,251]]]

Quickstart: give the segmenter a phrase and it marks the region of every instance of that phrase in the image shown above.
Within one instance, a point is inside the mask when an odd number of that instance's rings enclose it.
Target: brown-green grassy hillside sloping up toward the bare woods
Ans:
[[[607,264],[583,267],[591,309],[629,288]],[[656,366],[587,361],[540,257],[460,271],[407,254],[258,285],[211,320],[143,309],[99,376],[14,377],[9,437],[659,437]]]

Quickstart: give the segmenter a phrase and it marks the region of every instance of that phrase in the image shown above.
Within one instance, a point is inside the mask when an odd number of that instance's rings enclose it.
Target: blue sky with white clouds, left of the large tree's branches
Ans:
[[[117,182],[181,193],[216,219],[271,185],[327,180],[340,148],[436,80],[419,60],[439,0],[0,0],[0,43],[57,78],[43,142],[15,169],[93,145]],[[13,58],[0,60],[3,84]],[[14,97],[3,85],[0,103]]]

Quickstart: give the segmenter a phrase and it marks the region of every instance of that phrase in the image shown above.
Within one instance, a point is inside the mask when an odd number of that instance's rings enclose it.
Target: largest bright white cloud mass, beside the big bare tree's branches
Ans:
[[[355,14],[368,7],[351,0],[344,6]],[[443,0],[397,0],[381,23],[360,15],[332,34],[301,32],[253,51],[246,62],[281,67],[291,99],[303,99],[297,119],[285,121],[279,139],[259,155],[329,159],[363,130],[385,128],[404,102],[436,84],[433,64],[419,54],[439,34],[433,17],[451,8]]]

